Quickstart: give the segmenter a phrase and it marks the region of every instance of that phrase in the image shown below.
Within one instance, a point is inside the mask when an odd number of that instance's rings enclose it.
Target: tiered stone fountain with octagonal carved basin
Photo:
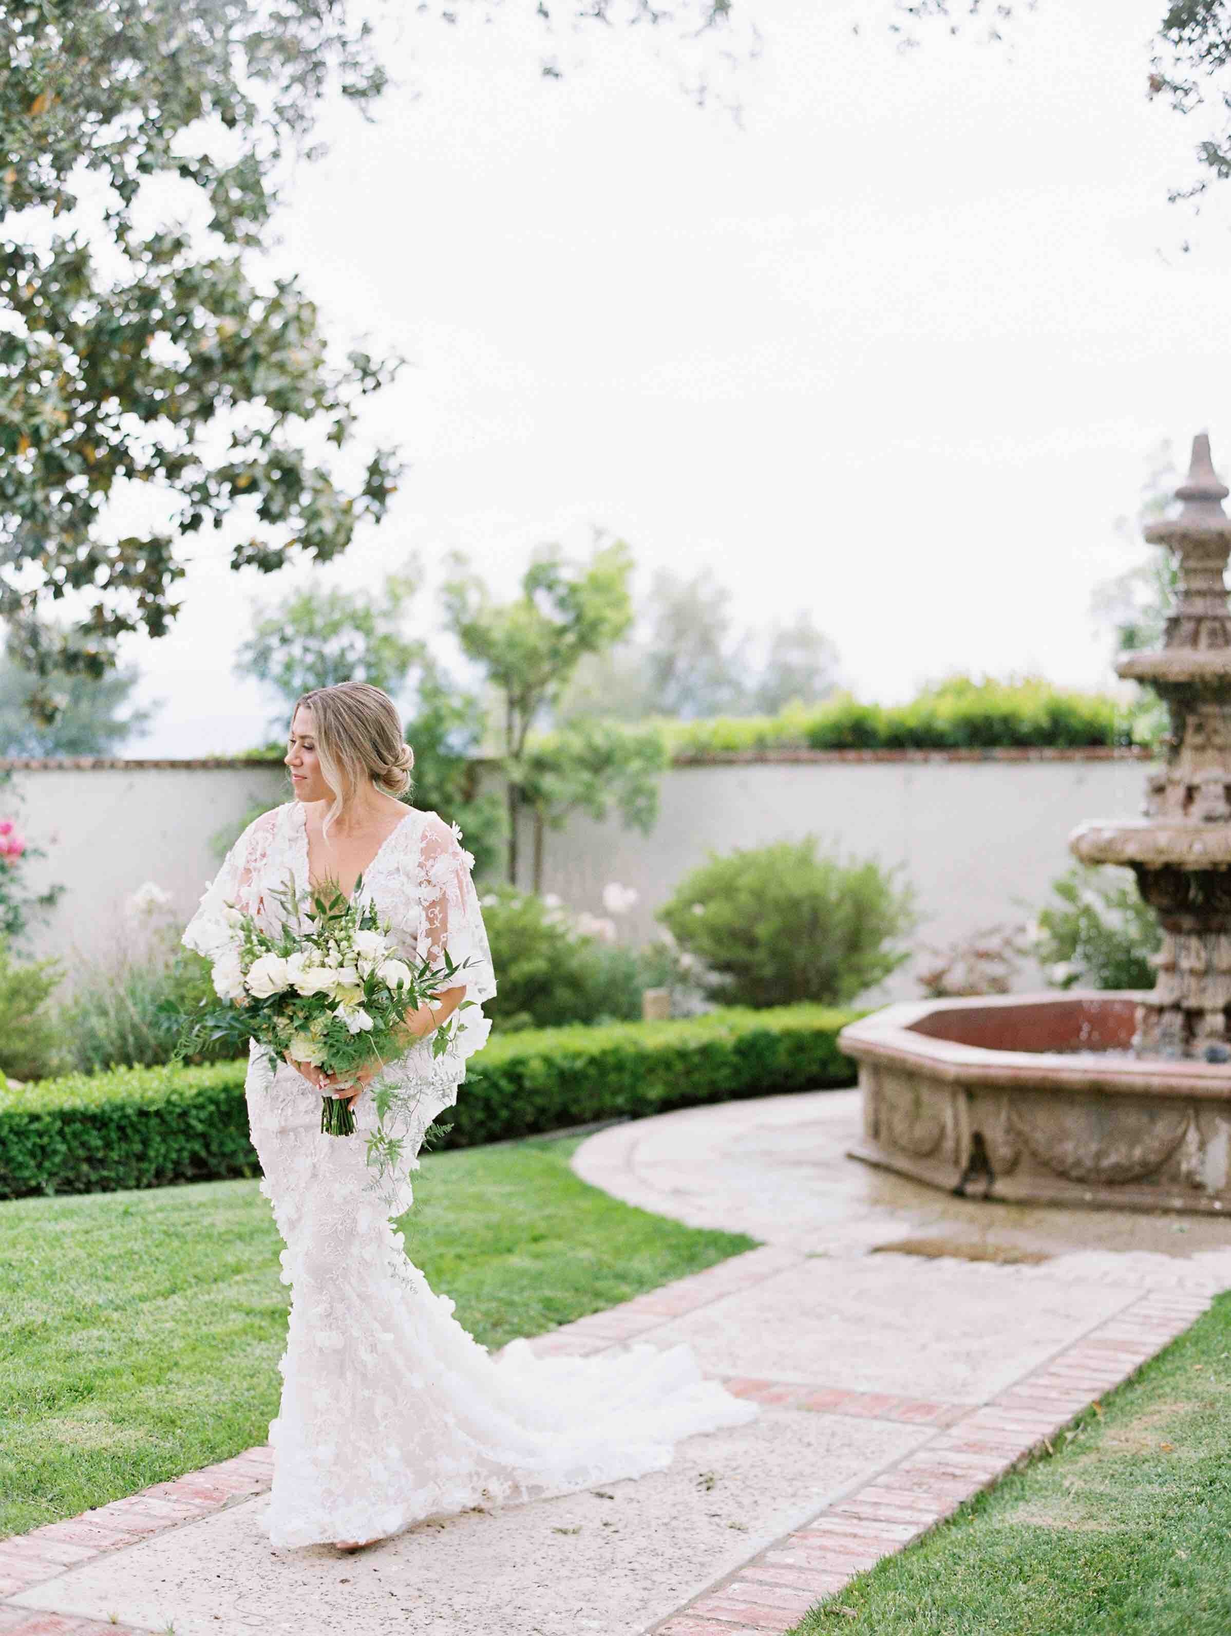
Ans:
[[[1166,700],[1143,818],[1082,825],[1089,864],[1128,865],[1162,921],[1157,983],[898,1005],[852,1024],[853,1157],[965,1196],[1231,1211],[1231,610],[1228,489],[1193,442],[1172,520],[1179,600],[1164,646],[1118,672]]]

